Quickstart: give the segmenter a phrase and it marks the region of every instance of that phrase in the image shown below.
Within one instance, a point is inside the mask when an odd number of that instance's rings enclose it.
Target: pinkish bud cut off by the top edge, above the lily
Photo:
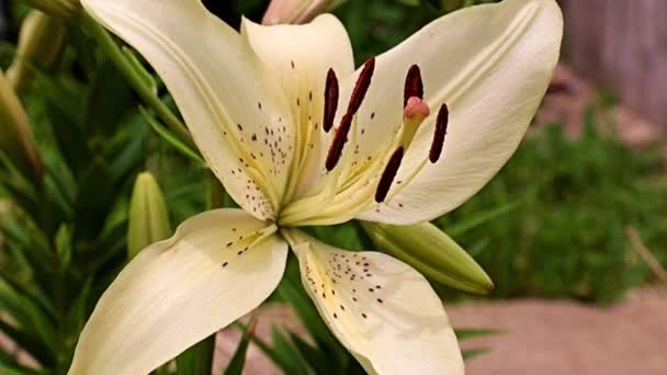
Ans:
[[[325,12],[334,2],[334,0],[271,0],[262,24],[306,23]]]

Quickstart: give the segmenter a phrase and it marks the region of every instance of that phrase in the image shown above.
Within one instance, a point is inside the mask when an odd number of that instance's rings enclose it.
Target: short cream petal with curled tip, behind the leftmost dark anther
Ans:
[[[325,82],[329,69],[339,79],[354,71],[350,38],[331,14],[321,14],[305,25],[263,26],[244,19],[241,33],[279,77],[289,98],[298,128],[293,174],[299,180],[292,181],[298,197],[324,172],[330,136],[321,130]]]

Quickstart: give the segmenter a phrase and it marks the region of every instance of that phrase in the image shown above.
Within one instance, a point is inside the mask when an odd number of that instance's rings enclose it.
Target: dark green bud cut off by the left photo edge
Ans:
[[[38,181],[44,166],[27,114],[4,73],[0,71],[0,151],[25,177]]]

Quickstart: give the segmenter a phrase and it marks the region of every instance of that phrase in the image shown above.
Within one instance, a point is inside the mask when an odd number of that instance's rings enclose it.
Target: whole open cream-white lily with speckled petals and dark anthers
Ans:
[[[410,266],[297,227],[412,224],[476,193],[520,143],[558,58],[553,0],[436,20],[354,71],[332,15],[239,35],[192,0],[84,0],[173,95],[242,209],[143,250],[100,299],[70,374],[146,374],[258,307],[289,247],[331,331],[369,373],[462,374],[442,304]],[[446,136],[445,136],[446,135]]]

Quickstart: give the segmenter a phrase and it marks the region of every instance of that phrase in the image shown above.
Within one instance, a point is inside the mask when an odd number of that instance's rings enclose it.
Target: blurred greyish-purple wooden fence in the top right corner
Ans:
[[[667,129],[667,0],[559,0],[565,60]]]

